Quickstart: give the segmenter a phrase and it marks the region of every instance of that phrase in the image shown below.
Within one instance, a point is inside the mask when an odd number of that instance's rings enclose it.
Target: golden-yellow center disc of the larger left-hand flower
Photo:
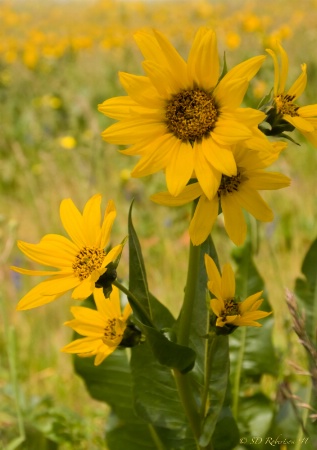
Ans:
[[[105,252],[101,248],[83,247],[72,265],[75,276],[80,281],[85,280],[94,270],[101,267],[104,259]]]

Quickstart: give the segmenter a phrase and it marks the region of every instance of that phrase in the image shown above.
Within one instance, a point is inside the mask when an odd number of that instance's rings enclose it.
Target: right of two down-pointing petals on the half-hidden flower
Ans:
[[[221,206],[230,239],[236,245],[242,245],[247,234],[247,224],[235,195],[221,196]]]

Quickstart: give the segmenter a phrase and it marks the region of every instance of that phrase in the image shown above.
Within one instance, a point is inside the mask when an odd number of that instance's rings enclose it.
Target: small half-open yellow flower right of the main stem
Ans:
[[[235,298],[236,283],[230,264],[222,268],[222,277],[216,264],[209,255],[205,255],[205,265],[208,275],[208,289],[215,296],[210,300],[210,309],[217,316],[216,326],[252,326],[261,327],[258,319],[269,316],[270,312],[259,311],[263,299],[262,292],[250,295],[243,302]]]

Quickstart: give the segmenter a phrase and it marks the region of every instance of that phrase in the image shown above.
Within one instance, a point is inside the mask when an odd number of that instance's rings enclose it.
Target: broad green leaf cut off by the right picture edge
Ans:
[[[317,239],[309,248],[302,265],[303,278],[297,278],[295,294],[305,312],[305,329],[309,338],[316,342],[317,328]]]

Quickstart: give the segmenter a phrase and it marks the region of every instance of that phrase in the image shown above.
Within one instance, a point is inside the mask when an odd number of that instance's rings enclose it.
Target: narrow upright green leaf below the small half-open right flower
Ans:
[[[228,336],[215,336],[212,341],[210,361],[209,408],[203,423],[200,445],[206,446],[216,428],[218,416],[223,407],[229,381]]]

